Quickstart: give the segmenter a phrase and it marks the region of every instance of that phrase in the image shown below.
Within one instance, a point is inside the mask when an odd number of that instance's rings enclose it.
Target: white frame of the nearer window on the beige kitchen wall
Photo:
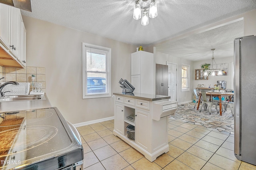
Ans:
[[[86,72],[86,52],[85,52],[86,46],[108,51],[108,56],[106,57],[108,60],[106,61],[106,63],[108,62],[108,68],[106,64],[106,75],[107,75],[106,81],[108,82],[108,87],[106,83],[106,88],[108,88],[108,93],[86,94],[87,92],[87,72]],[[101,97],[111,97],[111,48],[82,42],[82,98],[92,99],[92,98],[101,98]]]

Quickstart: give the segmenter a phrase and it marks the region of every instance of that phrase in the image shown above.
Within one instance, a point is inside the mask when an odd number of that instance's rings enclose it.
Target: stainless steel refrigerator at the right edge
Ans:
[[[234,154],[256,165],[256,36],[234,40]]]

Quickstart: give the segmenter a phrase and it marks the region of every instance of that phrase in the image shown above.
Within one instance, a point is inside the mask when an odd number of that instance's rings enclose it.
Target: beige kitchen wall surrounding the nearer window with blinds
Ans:
[[[22,16],[28,66],[46,68],[47,96],[73,124],[114,116],[112,97],[82,99],[82,42],[112,49],[112,93],[120,78],[130,81],[130,54],[136,46]],[[86,21],[85,21],[86,22]]]

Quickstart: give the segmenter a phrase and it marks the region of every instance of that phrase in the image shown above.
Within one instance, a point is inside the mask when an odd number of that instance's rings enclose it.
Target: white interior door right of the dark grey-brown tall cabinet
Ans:
[[[172,101],[177,101],[177,64],[166,62],[168,65],[168,96]]]

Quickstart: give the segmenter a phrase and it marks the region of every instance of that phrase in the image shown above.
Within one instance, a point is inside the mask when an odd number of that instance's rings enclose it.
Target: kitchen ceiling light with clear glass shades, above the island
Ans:
[[[133,19],[140,20],[141,18],[141,25],[147,26],[148,25],[148,17],[156,18],[158,15],[157,13],[157,4],[155,0],[136,0],[135,5],[133,8]]]

